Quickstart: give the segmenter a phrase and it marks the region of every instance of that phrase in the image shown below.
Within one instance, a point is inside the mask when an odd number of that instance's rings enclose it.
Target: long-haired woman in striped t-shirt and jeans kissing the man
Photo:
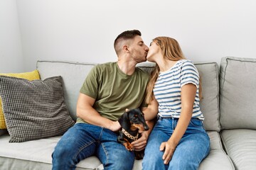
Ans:
[[[154,38],[146,58],[156,62],[147,89],[146,120],[156,116],[149,114],[155,113],[156,101],[159,108],[146,145],[143,169],[198,169],[210,150],[199,106],[198,70],[183,57],[173,38]]]

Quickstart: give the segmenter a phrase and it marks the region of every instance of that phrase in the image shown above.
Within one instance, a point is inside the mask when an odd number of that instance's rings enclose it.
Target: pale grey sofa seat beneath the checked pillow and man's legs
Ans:
[[[10,136],[0,138],[0,165],[1,169],[52,169],[54,147],[60,136],[48,137],[22,143],[9,143]],[[97,157],[90,157],[77,164],[77,169],[97,169],[100,166]]]

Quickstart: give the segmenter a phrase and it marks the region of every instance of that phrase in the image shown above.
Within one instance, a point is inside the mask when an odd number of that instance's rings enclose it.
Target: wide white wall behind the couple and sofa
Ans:
[[[253,57],[254,0],[18,0],[25,68],[36,60],[110,62],[123,30],[139,29],[149,45],[159,35],[180,42],[193,62]]]

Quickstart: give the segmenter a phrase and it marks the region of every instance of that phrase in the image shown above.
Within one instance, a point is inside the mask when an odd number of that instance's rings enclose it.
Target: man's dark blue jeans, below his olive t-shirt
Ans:
[[[75,169],[82,159],[97,156],[104,169],[132,169],[134,152],[117,142],[118,134],[95,125],[77,123],[55,147],[53,169]]]

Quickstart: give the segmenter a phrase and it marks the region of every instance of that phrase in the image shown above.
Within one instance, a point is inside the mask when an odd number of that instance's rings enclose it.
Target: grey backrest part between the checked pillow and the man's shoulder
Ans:
[[[63,78],[63,89],[65,103],[73,120],[76,120],[76,104],[80,88],[94,67],[93,63],[58,62],[58,61],[38,61],[36,67],[41,79],[61,76]]]

